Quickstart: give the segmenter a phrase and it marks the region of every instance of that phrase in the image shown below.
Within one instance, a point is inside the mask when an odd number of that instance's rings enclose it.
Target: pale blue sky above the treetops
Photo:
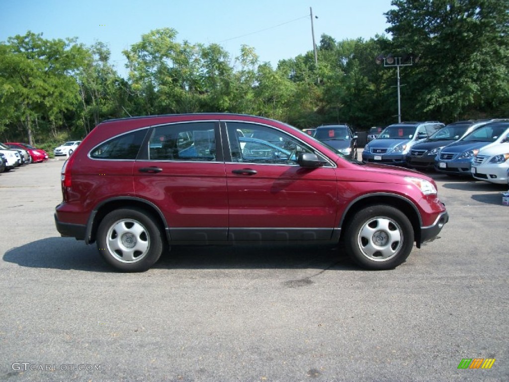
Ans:
[[[46,39],[77,37],[106,43],[111,63],[125,76],[122,50],[157,28],[178,32],[177,41],[219,43],[238,56],[253,47],[261,62],[289,59],[313,49],[324,33],[336,41],[385,34],[391,0],[0,0],[0,41],[31,30]]]

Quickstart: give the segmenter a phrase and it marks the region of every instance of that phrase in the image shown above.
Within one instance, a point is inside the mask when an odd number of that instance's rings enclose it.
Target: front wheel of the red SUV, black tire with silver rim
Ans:
[[[388,205],[372,205],[357,212],[345,232],[345,250],[366,269],[392,269],[413,248],[414,232],[408,217]]]

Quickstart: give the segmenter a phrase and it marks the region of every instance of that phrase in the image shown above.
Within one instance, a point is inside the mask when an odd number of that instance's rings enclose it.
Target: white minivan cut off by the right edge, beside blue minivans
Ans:
[[[490,145],[474,156],[472,176],[478,180],[507,184],[509,172],[509,142]]]

